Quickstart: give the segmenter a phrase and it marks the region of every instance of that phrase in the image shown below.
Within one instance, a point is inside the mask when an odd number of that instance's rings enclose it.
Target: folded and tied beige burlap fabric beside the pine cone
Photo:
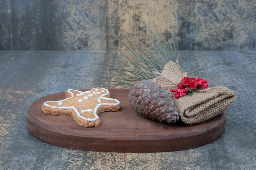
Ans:
[[[195,90],[192,96],[186,95],[176,99],[171,88],[177,88],[177,84],[183,77],[187,77],[178,64],[178,61],[168,62],[162,73],[153,79],[171,95],[176,107],[180,111],[180,119],[185,124],[197,124],[207,121],[220,113],[223,113],[235,100],[234,91],[227,87],[212,87],[205,90]]]

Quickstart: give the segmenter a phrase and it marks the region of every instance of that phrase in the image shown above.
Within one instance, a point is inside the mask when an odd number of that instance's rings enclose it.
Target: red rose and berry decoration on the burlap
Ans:
[[[190,95],[193,94],[193,89],[195,88],[201,88],[206,89],[209,87],[209,84],[207,83],[207,80],[203,80],[201,78],[191,78],[191,77],[184,77],[180,84],[177,84],[177,89],[172,88],[171,92],[174,93],[174,97],[176,99],[180,97],[184,97],[187,93]]]

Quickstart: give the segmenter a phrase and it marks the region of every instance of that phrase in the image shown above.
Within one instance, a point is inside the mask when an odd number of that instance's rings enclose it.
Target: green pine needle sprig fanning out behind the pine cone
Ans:
[[[150,47],[147,47],[135,38],[131,21],[131,33],[124,31],[128,35],[125,39],[126,42],[121,40],[118,35],[115,35],[115,38],[125,47],[126,52],[130,53],[132,57],[118,50],[123,58],[119,59],[115,57],[118,64],[110,65],[111,68],[108,70],[111,71],[112,77],[104,78],[105,83],[109,82],[109,84],[115,83],[115,85],[131,87],[141,80],[157,77],[154,72],[161,73],[165,64],[169,61],[176,62],[178,50],[177,40],[175,42],[173,38],[170,38],[166,42],[159,38],[158,31],[156,35],[147,25],[146,28],[149,31]]]

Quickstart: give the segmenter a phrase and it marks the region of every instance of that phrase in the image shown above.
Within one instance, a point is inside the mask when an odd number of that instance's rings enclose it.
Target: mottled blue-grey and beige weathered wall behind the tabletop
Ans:
[[[255,50],[255,0],[0,0],[0,50],[111,50],[150,29],[180,50]]]

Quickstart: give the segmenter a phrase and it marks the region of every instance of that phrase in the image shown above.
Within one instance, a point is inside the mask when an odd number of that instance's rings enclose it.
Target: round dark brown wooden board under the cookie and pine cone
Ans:
[[[161,123],[136,113],[128,103],[128,89],[109,89],[121,102],[118,112],[100,113],[101,125],[84,128],[71,116],[45,115],[43,102],[61,100],[65,92],[47,95],[27,109],[27,129],[49,144],[75,150],[101,152],[168,152],[197,148],[218,139],[225,131],[222,113],[203,124]]]

